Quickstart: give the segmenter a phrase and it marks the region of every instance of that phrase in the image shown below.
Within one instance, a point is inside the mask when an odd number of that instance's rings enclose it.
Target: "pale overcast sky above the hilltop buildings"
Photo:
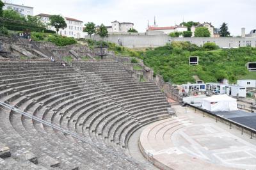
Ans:
[[[62,14],[84,22],[103,23],[111,21],[133,22],[134,28],[145,32],[149,24],[174,26],[184,21],[211,22],[220,27],[227,22],[232,35],[241,35],[241,27],[246,33],[256,29],[255,0],[6,0],[8,3],[34,7],[38,13]]]

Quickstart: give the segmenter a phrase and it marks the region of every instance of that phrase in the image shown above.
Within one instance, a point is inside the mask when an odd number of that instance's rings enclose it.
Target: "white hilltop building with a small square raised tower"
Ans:
[[[127,33],[130,29],[133,29],[134,24],[132,22],[118,22],[117,20],[111,22],[111,26],[107,26],[109,33]]]

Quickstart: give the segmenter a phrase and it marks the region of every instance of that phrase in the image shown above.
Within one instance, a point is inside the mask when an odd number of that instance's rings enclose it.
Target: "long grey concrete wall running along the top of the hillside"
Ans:
[[[88,37],[86,37],[88,38]],[[101,40],[99,36],[93,37],[95,40]],[[118,44],[122,43],[124,47],[140,48],[140,47],[159,47],[166,45],[172,41],[191,42],[199,47],[206,42],[214,42],[220,47],[246,47],[248,44],[251,47],[256,47],[256,37],[230,37],[230,38],[171,38],[168,35],[109,35],[104,40]],[[119,40],[119,41],[118,41]]]

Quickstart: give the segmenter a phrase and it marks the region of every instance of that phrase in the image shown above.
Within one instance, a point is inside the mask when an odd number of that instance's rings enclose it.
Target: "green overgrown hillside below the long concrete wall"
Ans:
[[[199,56],[199,65],[188,64],[189,56]],[[248,72],[246,63],[256,61],[256,48],[241,47],[239,49],[207,50],[195,48],[193,45],[166,45],[147,50],[142,59],[154,68],[155,73],[163,76],[164,81],[182,84],[195,82],[193,75],[205,82],[218,82],[228,79],[256,79],[256,72]]]

